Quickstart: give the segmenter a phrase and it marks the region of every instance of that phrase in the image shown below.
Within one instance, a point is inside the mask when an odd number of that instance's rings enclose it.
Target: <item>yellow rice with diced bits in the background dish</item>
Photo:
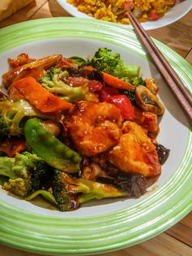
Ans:
[[[130,0],[67,0],[77,8],[89,16],[93,16],[98,20],[107,20],[122,24],[129,24],[129,19],[126,17],[127,9],[124,7]],[[133,0],[131,11],[138,10],[140,15],[139,21],[143,22],[151,20],[151,12],[159,17],[163,16],[166,11],[173,5],[176,0]]]

